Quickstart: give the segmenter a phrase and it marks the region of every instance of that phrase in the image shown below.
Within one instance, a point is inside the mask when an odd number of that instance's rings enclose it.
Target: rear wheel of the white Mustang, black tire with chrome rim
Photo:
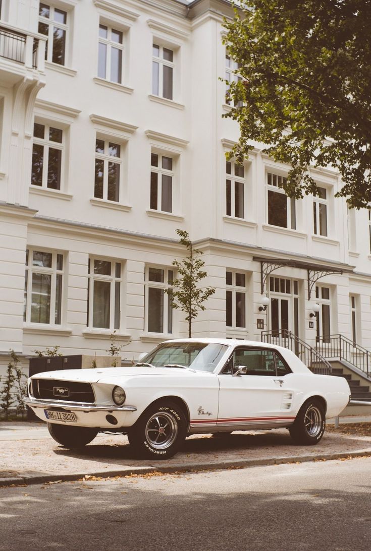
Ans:
[[[324,435],[326,427],[323,404],[316,399],[310,399],[301,406],[294,424],[289,432],[296,444],[313,446],[318,444]]]

